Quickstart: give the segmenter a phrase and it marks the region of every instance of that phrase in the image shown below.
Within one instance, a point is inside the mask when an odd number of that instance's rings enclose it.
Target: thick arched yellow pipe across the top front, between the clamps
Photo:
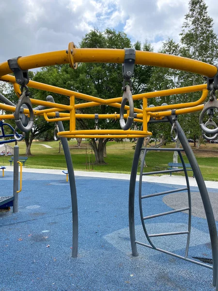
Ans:
[[[74,49],[75,63],[124,63],[124,49]],[[33,69],[48,65],[68,64],[69,57],[66,50],[40,53],[36,55],[21,57],[18,65],[21,69]],[[162,54],[150,51],[136,51],[136,65],[152,65],[184,70],[192,73],[213,77],[217,73],[214,65],[200,61]],[[0,64],[0,76],[10,74],[12,71],[7,62]]]

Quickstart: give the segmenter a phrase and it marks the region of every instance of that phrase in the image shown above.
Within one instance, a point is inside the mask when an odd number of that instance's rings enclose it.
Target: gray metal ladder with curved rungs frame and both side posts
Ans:
[[[218,284],[217,284],[217,277],[218,277],[218,235],[217,235],[217,227],[214,219],[214,214],[213,210],[211,207],[209,195],[207,192],[207,188],[205,186],[202,173],[200,171],[199,165],[197,163],[197,160],[192,152],[192,149],[190,145],[188,144],[187,138],[185,133],[183,132],[182,128],[180,127],[178,121],[173,121],[171,116],[168,116],[168,121],[173,125],[173,122],[175,122],[176,127],[177,127],[177,132],[178,132],[178,138],[183,146],[183,149],[165,149],[165,148],[143,148],[143,138],[139,138],[137,141],[136,149],[135,149],[135,154],[133,158],[133,163],[132,163],[132,171],[131,171],[131,176],[130,176],[130,183],[129,183],[129,233],[130,233],[130,242],[131,242],[131,248],[132,248],[132,255],[133,256],[138,256],[138,251],[137,251],[137,244],[155,249],[156,251],[160,251],[165,254],[169,254],[171,256],[174,256],[179,259],[184,259],[186,261],[204,266],[209,269],[213,269],[213,285],[217,285],[217,291],[218,291]],[[164,171],[154,171],[154,172],[149,172],[149,173],[143,173],[143,162],[142,162],[142,167],[140,169],[140,189],[139,189],[139,203],[140,203],[140,218],[141,218],[141,223],[142,227],[145,233],[145,236],[148,240],[149,243],[144,243],[144,242],[139,242],[136,239],[136,231],[135,231],[135,186],[136,186],[136,178],[137,178],[137,170],[138,170],[138,164],[139,164],[139,159],[140,159],[140,153],[141,150],[144,150],[144,156],[143,156],[143,161],[145,159],[146,153],[148,150],[160,150],[160,151],[178,151],[179,157],[181,159],[181,162],[183,164],[182,169],[172,169],[172,170],[164,170]],[[208,229],[209,229],[209,234],[210,234],[210,241],[211,241],[211,248],[212,248],[212,259],[213,259],[213,267],[207,264],[204,264],[202,262],[196,261],[194,259],[189,259],[187,258],[188,255],[188,248],[189,248],[189,241],[190,241],[190,230],[191,230],[191,198],[190,198],[190,188],[189,188],[189,182],[188,182],[188,176],[187,176],[187,169],[185,162],[183,160],[181,151],[183,151],[187,155],[188,162],[191,165],[191,168],[193,170],[193,174],[195,176],[196,182],[198,184],[199,192],[202,197],[202,202],[207,218],[207,224],[208,224]],[[153,175],[153,174],[161,174],[161,173],[170,173],[170,172],[179,172],[179,171],[184,171],[185,177],[186,177],[186,182],[187,182],[187,187],[185,188],[179,188],[177,190],[170,190],[170,191],[165,191],[165,192],[159,192],[159,193],[154,193],[154,194],[142,194],[141,193],[141,187],[142,187],[142,177],[145,175]],[[163,195],[163,194],[170,194],[173,192],[179,192],[179,191],[185,191],[187,190],[187,195],[188,195],[188,207],[187,208],[182,208],[178,210],[171,210],[168,212],[164,213],[158,213],[150,216],[144,216],[143,215],[143,210],[142,210],[142,200],[147,199],[149,197],[155,197],[158,195]],[[145,226],[145,221],[148,219],[153,219],[155,217],[163,216],[163,215],[169,215],[172,213],[176,212],[181,212],[188,210],[188,225],[187,225],[187,231],[178,231],[178,232],[168,232],[168,233],[157,233],[157,234],[148,234],[146,226]],[[158,248],[155,246],[155,244],[152,242],[152,238],[154,237],[161,237],[161,236],[171,236],[171,235],[185,235],[187,234],[187,243],[186,243],[186,250],[185,250],[185,255],[180,256],[174,253],[171,253],[167,250]]]

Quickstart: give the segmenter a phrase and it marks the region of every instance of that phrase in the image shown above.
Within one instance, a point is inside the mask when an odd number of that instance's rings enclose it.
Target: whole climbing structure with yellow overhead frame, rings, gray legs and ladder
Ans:
[[[89,96],[86,94],[74,92],[71,90],[66,90],[58,88],[55,86],[29,81],[28,78],[28,69],[37,68],[41,66],[48,65],[57,65],[57,64],[67,64],[69,63],[73,69],[76,69],[78,62],[93,62],[93,63],[121,63],[124,81],[122,89],[124,91],[123,97],[116,97],[111,99],[103,99],[98,97]],[[143,93],[138,95],[132,95],[132,81],[131,77],[134,72],[134,65],[153,65],[153,66],[162,66],[169,67],[172,69],[185,70],[192,73],[201,74],[206,76],[207,83],[200,84],[195,86],[175,88],[169,90],[162,90],[157,92]],[[15,77],[7,75],[14,72]],[[218,90],[218,68],[214,65],[208,65],[196,60],[191,60],[183,57],[177,57],[172,55],[166,55],[161,53],[147,52],[147,51],[136,51],[135,49],[77,49],[74,46],[74,43],[71,42],[68,45],[67,50],[47,52],[38,55],[32,55],[27,57],[18,57],[15,59],[10,59],[8,62],[0,64],[0,80],[11,82],[14,85],[14,89],[17,97],[19,98],[18,103],[15,106],[4,102],[5,104],[0,103],[0,109],[12,112],[14,114],[3,114],[0,116],[0,119],[14,119],[16,121],[16,126],[23,132],[27,132],[31,129],[34,124],[34,116],[43,115],[47,122],[58,123],[58,129],[56,127],[57,138],[60,137],[64,149],[64,154],[67,162],[67,169],[69,173],[70,189],[71,189],[71,199],[72,199],[72,213],[73,213],[73,248],[72,248],[72,257],[77,257],[78,255],[78,207],[77,207],[77,193],[76,193],[76,184],[73,171],[73,164],[70,156],[69,147],[67,145],[66,138],[138,138],[135,156],[132,165],[131,178],[130,178],[130,187],[129,187],[129,229],[130,229],[130,241],[132,246],[132,254],[134,256],[138,255],[136,245],[141,244],[160,252],[164,252],[175,256],[180,259],[184,259],[198,265],[205,266],[207,268],[213,269],[213,284],[217,285],[217,275],[218,275],[218,236],[217,228],[215,224],[215,219],[213,215],[213,210],[211,208],[211,203],[209,200],[208,192],[205,186],[205,183],[202,178],[201,171],[199,169],[198,163],[195,159],[195,156],[189,146],[186,136],[181,129],[177,116],[180,114],[193,113],[197,111],[202,111],[200,114],[200,127],[202,133],[206,139],[213,140],[218,136],[218,127],[217,124],[212,120],[214,115],[214,110],[218,109],[218,100],[216,97],[216,90]],[[127,84],[126,84],[127,83]],[[27,86],[28,85],[28,86]],[[20,88],[21,86],[21,88]],[[69,105],[63,105],[55,103],[53,98],[50,96],[50,100],[47,101],[37,100],[30,98],[29,87],[48,91],[51,93],[61,94],[68,96],[70,99]],[[203,104],[206,100],[208,92],[210,91],[209,100]],[[158,97],[161,100],[161,97],[179,95],[179,94],[188,94],[191,92],[202,92],[202,96],[197,101],[178,103],[178,104],[161,104],[159,106],[148,106],[148,99]],[[75,98],[85,100],[84,103],[75,103]],[[142,108],[135,108],[134,101],[142,100]],[[128,101],[129,105],[126,105]],[[38,108],[32,109],[32,104],[38,105]],[[89,108],[93,106],[111,106],[115,108],[120,108],[120,114],[111,113],[111,114],[80,114],[76,113],[77,109]],[[27,108],[25,108],[27,107]],[[40,108],[39,108],[40,107]],[[43,108],[42,108],[43,107]],[[47,109],[45,109],[48,107]],[[126,113],[124,111],[126,110]],[[63,113],[67,111],[68,113]],[[204,114],[209,112],[209,119],[204,123]],[[28,122],[24,124],[21,114],[24,114],[28,117]],[[99,129],[97,128],[97,123],[95,122],[95,129],[88,130],[77,130],[76,129],[76,119],[111,119],[120,118],[121,129]],[[125,119],[127,120],[125,122]],[[26,120],[27,121],[27,120]],[[65,131],[62,126],[62,121],[69,121],[69,130]],[[138,122],[142,124],[141,130],[130,129],[133,122]],[[151,175],[156,173],[169,173],[176,172],[177,170],[165,170],[157,171],[150,173],[143,173],[143,168],[140,171],[140,217],[142,222],[142,227],[147,238],[147,243],[138,242],[135,235],[135,212],[134,212],[134,196],[135,196],[135,184],[136,184],[136,175],[138,162],[140,157],[140,152],[147,149],[142,147],[143,139],[146,136],[152,135],[152,132],[148,131],[149,123],[156,122],[170,122],[171,124],[171,137],[172,140],[176,141],[177,138],[181,141],[183,149],[177,149],[183,164],[183,171],[186,175],[187,187],[182,188],[176,191],[187,190],[187,195],[189,199],[189,206],[186,209],[173,210],[166,213],[158,213],[151,215],[149,217],[143,216],[143,210],[141,206],[141,200],[154,197],[156,195],[163,195],[169,192],[160,192],[158,194],[141,194],[141,184],[142,176]],[[213,129],[209,128],[213,127]],[[210,136],[208,136],[210,135]],[[211,136],[212,135],[212,136]],[[151,148],[149,148],[151,150]],[[155,150],[155,149],[153,149]],[[167,150],[167,149],[162,149]],[[174,149],[171,149],[174,151]],[[193,173],[195,175],[200,194],[202,197],[203,206],[206,213],[211,247],[212,247],[212,256],[213,256],[213,267],[188,259],[188,247],[189,247],[189,238],[191,231],[191,199],[190,199],[190,187],[187,177],[186,165],[181,156],[181,151],[185,151],[188,162],[191,165]],[[142,162],[143,165],[143,162]],[[179,169],[181,171],[181,169]],[[176,213],[179,211],[188,210],[188,229],[187,231],[180,231],[177,233],[160,233],[160,234],[148,234],[144,221],[146,219],[151,219],[163,215],[168,215]],[[173,254],[169,251],[162,250],[157,248],[152,242],[152,237],[158,236],[173,236],[173,235],[187,235],[187,245],[185,256],[179,256]]]

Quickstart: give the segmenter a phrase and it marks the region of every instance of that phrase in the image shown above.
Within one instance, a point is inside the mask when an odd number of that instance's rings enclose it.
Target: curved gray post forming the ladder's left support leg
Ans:
[[[136,233],[135,233],[135,219],[134,219],[134,205],[135,205],[135,188],[136,188],[136,176],[137,169],[140,158],[140,148],[143,145],[144,138],[138,138],[135,154],[132,162],[132,170],[129,183],[129,235],[130,242],[132,247],[132,255],[138,256],[137,247],[136,247]]]

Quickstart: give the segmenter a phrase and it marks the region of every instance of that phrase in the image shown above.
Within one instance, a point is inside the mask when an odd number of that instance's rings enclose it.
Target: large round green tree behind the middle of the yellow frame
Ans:
[[[140,43],[138,45],[141,47]],[[149,47],[149,44],[146,44]],[[143,49],[146,49],[144,45]],[[81,43],[81,48],[108,48],[108,49],[124,49],[131,48],[131,42],[124,32],[116,32],[114,30],[106,29],[104,32],[100,32],[96,29],[87,33]],[[148,72],[151,71],[151,67],[148,66],[135,66],[133,80],[133,93],[144,92],[144,87],[147,86],[145,82],[149,79]],[[147,70],[147,71],[146,71]],[[148,77],[147,77],[148,76]],[[82,63],[78,65],[76,70],[72,70],[69,65],[45,67],[42,71],[37,72],[34,81],[41,81],[47,84],[55,85],[58,87],[66,88],[69,90],[81,92],[87,95],[109,99],[113,97],[121,97],[122,82],[124,78],[122,75],[121,64],[103,64],[103,63]],[[144,85],[145,84],[145,85]],[[48,92],[37,92],[41,99],[45,99]],[[56,102],[63,104],[69,104],[69,98],[60,96],[58,94],[52,94]],[[83,103],[83,100],[76,100],[77,103]],[[141,102],[141,100],[140,100]],[[137,102],[136,102],[137,103]],[[136,107],[141,104],[135,104]],[[139,105],[141,106],[141,105]],[[90,108],[80,108],[77,113],[99,113],[107,114],[119,112],[119,109],[113,109],[110,106],[97,106]],[[98,129],[120,129],[119,122],[116,120],[98,120]],[[64,125],[65,130],[68,128],[68,124]],[[77,119],[77,129],[94,129],[95,122],[93,119]],[[106,153],[106,144],[110,140],[94,138],[90,139],[90,146],[93,148],[95,154],[95,163],[103,164],[104,153]]]

